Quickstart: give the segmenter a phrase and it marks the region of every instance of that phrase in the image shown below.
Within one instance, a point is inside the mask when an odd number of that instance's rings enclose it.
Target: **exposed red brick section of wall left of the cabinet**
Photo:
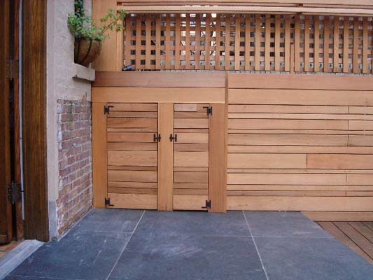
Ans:
[[[61,235],[92,207],[91,105],[57,100],[58,169],[57,233]]]

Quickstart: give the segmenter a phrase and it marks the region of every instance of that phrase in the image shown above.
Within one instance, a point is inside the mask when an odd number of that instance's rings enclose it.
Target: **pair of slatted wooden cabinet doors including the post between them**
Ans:
[[[214,150],[225,148],[224,139],[211,141],[214,134],[224,138],[217,124],[224,119],[224,104],[115,103],[104,108],[106,207],[225,211],[225,193],[218,191],[223,182],[214,176],[224,162],[213,157]]]

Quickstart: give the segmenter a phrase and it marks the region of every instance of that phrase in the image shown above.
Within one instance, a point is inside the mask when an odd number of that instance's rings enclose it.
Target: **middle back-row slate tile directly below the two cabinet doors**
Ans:
[[[250,232],[241,211],[146,211],[136,235],[249,236]]]

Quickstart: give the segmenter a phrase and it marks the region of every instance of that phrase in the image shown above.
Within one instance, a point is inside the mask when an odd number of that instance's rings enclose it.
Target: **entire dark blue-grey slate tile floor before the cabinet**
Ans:
[[[298,212],[90,211],[6,279],[373,279]]]

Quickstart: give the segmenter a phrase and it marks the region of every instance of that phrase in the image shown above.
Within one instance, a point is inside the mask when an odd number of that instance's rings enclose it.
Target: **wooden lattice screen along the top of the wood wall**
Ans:
[[[372,73],[372,18],[322,15],[129,14],[123,65]]]

